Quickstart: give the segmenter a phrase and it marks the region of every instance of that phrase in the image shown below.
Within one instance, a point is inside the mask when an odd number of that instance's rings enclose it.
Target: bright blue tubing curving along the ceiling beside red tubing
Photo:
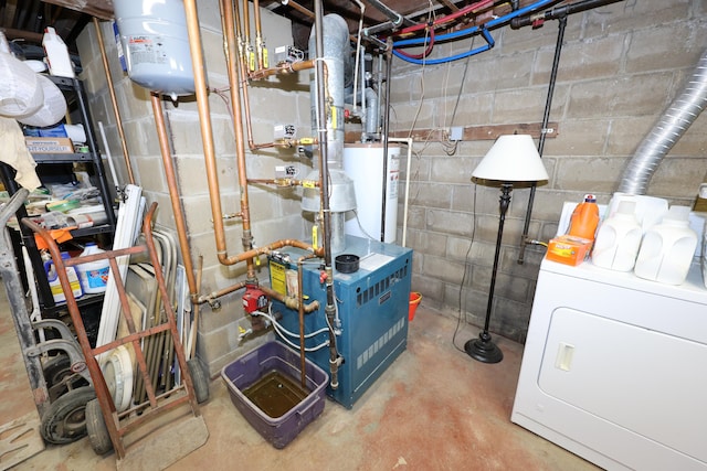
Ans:
[[[453,62],[453,61],[458,61],[460,58],[464,58],[464,57],[468,57],[469,55],[475,55],[478,54],[481,52],[484,51],[488,51],[489,49],[492,49],[494,46],[494,40],[490,36],[490,34],[487,34],[487,30],[492,29],[492,28],[496,28],[502,24],[508,23],[510,22],[510,20],[513,20],[516,17],[520,17],[524,15],[526,13],[529,13],[534,10],[540,9],[549,3],[553,3],[557,0],[539,0],[535,3],[531,3],[529,6],[519,8],[516,11],[511,11],[508,14],[505,14],[503,17],[498,17],[492,21],[489,21],[488,23],[486,23],[483,28],[479,26],[473,26],[473,28],[468,28],[466,30],[460,30],[460,31],[454,31],[451,33],[446,33],[446,34],[442,34],[435,38],[435,42],[440,42],[440,41],[447,41],[447,40],[455,40],[455,39],[460,39],[460,38],[464,38],[464,36],[468,36],[472,34],[476,34],[479,33],[482,35],[484,35],[484,39],[486,39],[486,42],[488,44],[483,45],[481,47],[477,47],[475,50],[472,51],[467,51],[461,54],[456,54],[456,55],[452,55],[449,57],[441,57],[441,58],[433,58],[433,60],[425,60],[425,58],[412,58],[412,57],[407,57],[400,53],[397,53],[393,49],[393,54],[397,57],[402,58],[403,61],[410,62],[412,64],[444,64],[447,62]],[[402,41],[397,41],[393,42],[393,47],[401,47],[401,46],[408,46],[408,45],[420,45],[420,44],[425,44],[428,41],[426,38],[414,38],[414,39],[410,39],[410,40],[402,40]]]

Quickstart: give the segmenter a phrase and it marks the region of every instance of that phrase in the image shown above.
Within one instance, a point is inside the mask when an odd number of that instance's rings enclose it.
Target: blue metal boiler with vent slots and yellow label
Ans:
[[[388,366],[405,350],[408,343],[408,312],[412,278],[412,250],[347,236],[345,254],[357,255],[359,269],[342,274],[334,270],[337,304],[337,350],[344,357],[339,367],[337,389],[327,387],[327,394],[347,408],[371,386]],[[270,258],[272,288],[289,296],[297,295],[297,260],[304,250],[291,248]],[[340,255],[340,254],[337,254]],[[329,339],[326,306],[326,286],[321,280],[323,261],[318,258],[303,264],[303,293],[305,303],[318,300],[320,308],[305,314],[305,346],[316,349]],[[272,314],[282,315],[279,324],[292,333],[299,333],[296,310],[274,301]],[[299,345],[299,338],[289,336]],[[329,372],[329,349],[308,351],[307,358]]]

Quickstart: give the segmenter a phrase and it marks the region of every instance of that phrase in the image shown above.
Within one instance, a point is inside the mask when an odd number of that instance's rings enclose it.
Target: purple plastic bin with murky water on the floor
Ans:
[[[273,371],[299,384],[299,353],[279,342],[268,342],[221,370],[221,377],[229,388],[231,402],[235,408],[275,448],[285,448],[297,437],[297,433],[321,414],[329,376],[307,360],[305,373],[309,395],[277,418],[265,414],[243,394],[243,390]]]

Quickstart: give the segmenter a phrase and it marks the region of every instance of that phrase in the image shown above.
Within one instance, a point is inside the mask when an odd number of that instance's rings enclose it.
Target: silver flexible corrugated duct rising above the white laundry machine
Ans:
[[[707,51],[703,53],[685,89],[673,100],[639,146],[623,173],[618,191],[627,194],[645,194],[648,182],[663,158],[697,119],[705,106],[707,106]]]

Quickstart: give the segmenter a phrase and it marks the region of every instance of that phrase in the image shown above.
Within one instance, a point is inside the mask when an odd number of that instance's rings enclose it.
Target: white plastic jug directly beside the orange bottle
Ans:
[[[635,202],[621,201],[616,212],[601,224],[592,250],[594,265],[616,271],[633,269],[643,237],[635,208]]]

